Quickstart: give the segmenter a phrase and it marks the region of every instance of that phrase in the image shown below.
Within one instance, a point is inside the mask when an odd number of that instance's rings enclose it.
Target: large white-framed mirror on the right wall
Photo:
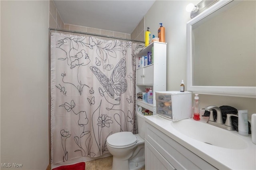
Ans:
[[[256,1],[220,0],[187,23],[187,90],[256,98]]]

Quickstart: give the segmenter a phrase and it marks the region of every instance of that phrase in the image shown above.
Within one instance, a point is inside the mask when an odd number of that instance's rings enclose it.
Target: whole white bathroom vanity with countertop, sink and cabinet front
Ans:
[[[208,117],[201,121],[185,119],[175,123],[182,125],[182,129],[188,129],[186,133],[174,126],[174,122],[158,115],[145,117],[145,168],[255,170],[256,145],[252,143],[251,136],[214,127],[207,124],[207,120]],[[198,128],[195,133],[189,131],[194,125]],[[216,135],[216,132],[221,134]],[[210,141],[202,142],[204,136]],[[237,142],[232,144],[232,140]]]

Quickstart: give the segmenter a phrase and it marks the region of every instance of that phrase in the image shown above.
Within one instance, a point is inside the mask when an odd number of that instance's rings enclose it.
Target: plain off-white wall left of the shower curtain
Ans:
[[[45,170],[49,1],[1,1],[1,164]]]

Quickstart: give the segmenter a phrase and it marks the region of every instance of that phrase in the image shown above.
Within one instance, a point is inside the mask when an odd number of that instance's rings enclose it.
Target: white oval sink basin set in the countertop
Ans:
[[[247,147],[246,142],[234,134],[234,131],[215,127],[205,122],[184,119],[176,122],[172,121],[171,125],[182,134],[206,144],[229,149],[244,149]]]

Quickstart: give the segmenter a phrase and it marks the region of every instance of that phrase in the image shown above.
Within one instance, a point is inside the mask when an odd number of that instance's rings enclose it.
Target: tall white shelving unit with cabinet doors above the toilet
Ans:
[[[152,50],[153,49],[153,50]],[[153,63],[138,68],[139,57],[148,55],[152,51]],[[152,88],[153,104],[139,101],[136,96],[136,111],[141,106],[156,114],[156,91],[166,91],[166,43],[153,42],[136,55],[136,94]]]

